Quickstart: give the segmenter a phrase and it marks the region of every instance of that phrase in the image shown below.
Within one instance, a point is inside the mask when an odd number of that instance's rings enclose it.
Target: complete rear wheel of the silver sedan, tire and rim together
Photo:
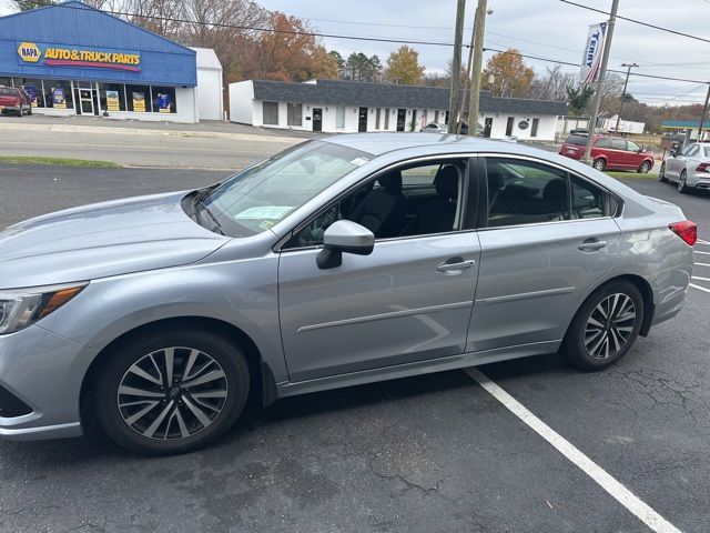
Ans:
[[[565,336],[564,351],[580,370],[601,370],[631,349],[643,322],[643,298],[628,281],[599,288],[581,305]]]

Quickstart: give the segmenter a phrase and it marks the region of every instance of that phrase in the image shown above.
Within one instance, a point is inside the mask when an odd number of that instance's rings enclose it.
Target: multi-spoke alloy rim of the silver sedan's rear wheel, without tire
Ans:
[[[623,293],[610,294],[592,310],[585,325],[585,348],[595,359],[608,359],[626,346],[636,325],[636,304]]]

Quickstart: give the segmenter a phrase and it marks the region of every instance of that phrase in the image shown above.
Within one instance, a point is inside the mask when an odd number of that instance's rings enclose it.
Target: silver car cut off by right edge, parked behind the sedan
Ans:
[[[661,163],[658,179],[678,183],[681,193],[710,190],[710,143],[693,142],[680,153],[671,153]]]

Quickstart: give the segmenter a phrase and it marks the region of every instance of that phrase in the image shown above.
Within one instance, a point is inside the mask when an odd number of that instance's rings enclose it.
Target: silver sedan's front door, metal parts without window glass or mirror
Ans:
[[[464,222],[466,165],[452,231],[376,238],[372,254],[345,253],[325,270],[316,264],[321,247],[284,247],[278,300],[292,382],[463,353],[480,254]]]

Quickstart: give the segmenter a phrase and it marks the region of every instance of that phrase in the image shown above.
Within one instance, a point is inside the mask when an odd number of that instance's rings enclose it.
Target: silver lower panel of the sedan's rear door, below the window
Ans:
[[[588,289],[613,266],[619,234],[609,218],[480,231],[466,351],[561,339]]]

